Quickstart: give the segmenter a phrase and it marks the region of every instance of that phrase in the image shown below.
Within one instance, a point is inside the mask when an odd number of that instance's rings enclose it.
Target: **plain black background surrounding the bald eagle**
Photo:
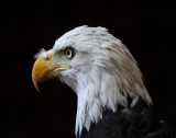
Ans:
[[[76,94],[56,79],[34,89],[33,55],[79,26],[105,26],[139,62],[157,113],[176,129],[175,4],[168,0],[2,0],[1,138],[75,137]]]

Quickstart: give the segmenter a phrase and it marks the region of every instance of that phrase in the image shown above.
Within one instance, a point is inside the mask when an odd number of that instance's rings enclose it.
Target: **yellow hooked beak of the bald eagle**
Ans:
[[[32,81],[37,91],[37,82],[47,80],[56,74],[57,71],[69,69],[69,66],[53,65],[52,49],[46,51],[46,57],[40,56],[32,69]]]

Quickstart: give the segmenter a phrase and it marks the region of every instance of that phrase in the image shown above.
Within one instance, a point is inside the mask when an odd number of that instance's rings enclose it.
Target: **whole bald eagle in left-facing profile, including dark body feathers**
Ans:
[[[176,137],[154,114],[135,59],[107,28],[76,27],[35,57],[32,80],[37,90],[37,82],[56,77],[77,94],[76,137]]]

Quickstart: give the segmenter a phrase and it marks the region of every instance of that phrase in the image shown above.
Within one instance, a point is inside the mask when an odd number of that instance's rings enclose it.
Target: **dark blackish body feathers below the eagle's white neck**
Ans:
[[[141,100],[133,107],[120,106],[116,113],[103,112],[103,119],[92,124],[81,138],[176,138],[173,128]]]

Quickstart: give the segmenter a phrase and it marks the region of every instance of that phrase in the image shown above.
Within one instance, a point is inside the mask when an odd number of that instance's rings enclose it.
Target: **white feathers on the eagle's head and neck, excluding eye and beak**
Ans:
[[[65,47],[75,48],[72,60],[62,55]],[[64,34],[53,47],[53,62],[72,67],[59,79],[78,96],[76,135],[84,127],[89,130],[106,108],[116,112],[118,105],[133,106],[140,97],[152,103],[135,59],[105,27],[79,26]]]

